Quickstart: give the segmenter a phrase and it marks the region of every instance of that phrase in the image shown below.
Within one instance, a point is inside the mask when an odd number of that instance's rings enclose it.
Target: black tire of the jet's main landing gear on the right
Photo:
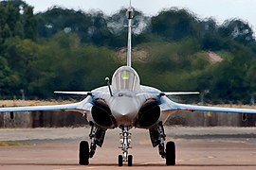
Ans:
[[[166,144],[166,165],[175,165],[175,161],[175,144],[171,141]]]

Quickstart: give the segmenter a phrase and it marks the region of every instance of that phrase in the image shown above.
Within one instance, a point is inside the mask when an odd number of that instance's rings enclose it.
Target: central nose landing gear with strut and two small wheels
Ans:
[[[123,162],[127,162],[128,166],[133,165],[133,156],[128,155],[128,149],[132,148],[130,146],[131,144],[131,133],[129,133],[129,127],[122,127],[122,132],[120,133],[120,144],[122,150],[122,155],[119,155],[118,161],[119,161],[119,166],[123,165]]]

